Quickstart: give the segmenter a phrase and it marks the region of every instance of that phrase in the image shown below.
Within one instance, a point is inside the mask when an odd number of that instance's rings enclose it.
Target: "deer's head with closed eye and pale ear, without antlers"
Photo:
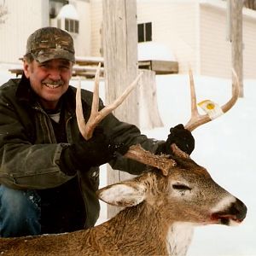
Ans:
[[[215,183],[204,167],[176,145],[172,145],[172,151],[175,165],[165,175],[151,168],[140,177],[99,189],[99,198],[117,207],[133,207],[145,202],[157,209],[169,224],[241,223],[246,217],[245,205]]]

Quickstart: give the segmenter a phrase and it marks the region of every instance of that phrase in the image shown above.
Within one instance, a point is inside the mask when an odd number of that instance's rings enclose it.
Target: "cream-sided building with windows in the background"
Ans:
[[[0,21],[0,65],[19,65],[26,38],[41,26],[67,29],[73,36],[79,60],[94,62],[91,57],[96,58],[95,61],[102,58],[102,0],[2,2],[5,15]],[[160,68],[164,66],[169,73],[187,73],[190,66],[196,74],[230,77],[226,1],[137,0],[137,24],[141,67],[161,73]],[[256,12],[244,8],[244,79],[256,78],[255,44]],[[161,67],[154,66],[159,61]]]

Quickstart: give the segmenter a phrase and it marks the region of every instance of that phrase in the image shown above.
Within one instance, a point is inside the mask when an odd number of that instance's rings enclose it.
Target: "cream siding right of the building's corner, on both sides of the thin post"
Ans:
[[[230,78],[231,43],[226,40],[225,4],[219,6],[201,4],[200,52],[202,75]],[[256,14],[243,9],[243,78],[256,78]]]

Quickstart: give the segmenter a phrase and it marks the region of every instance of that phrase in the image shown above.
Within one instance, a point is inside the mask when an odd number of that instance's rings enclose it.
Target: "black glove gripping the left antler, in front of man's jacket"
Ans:
[[[88,170],[91,166],[101,166],[108,163],[116,154],[125,154],[128,147],[115,144],[102,132],[94,132],[88,141],[74,143],[63,148],[60,157],[61,171],[74,175],[77,170]]]

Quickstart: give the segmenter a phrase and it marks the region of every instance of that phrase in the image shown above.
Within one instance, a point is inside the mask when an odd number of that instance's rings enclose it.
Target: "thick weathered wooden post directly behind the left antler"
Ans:
[[[105,68],[106,102],[113,102],[137,77],[137,3],[136,0],[104,0],[103,56]],[[139,126],[138,88],[114,111],[122,121]],[[108,183],[130,178],[125,172],[109,167]],[[108,218],[118,209],[108,207]]]

